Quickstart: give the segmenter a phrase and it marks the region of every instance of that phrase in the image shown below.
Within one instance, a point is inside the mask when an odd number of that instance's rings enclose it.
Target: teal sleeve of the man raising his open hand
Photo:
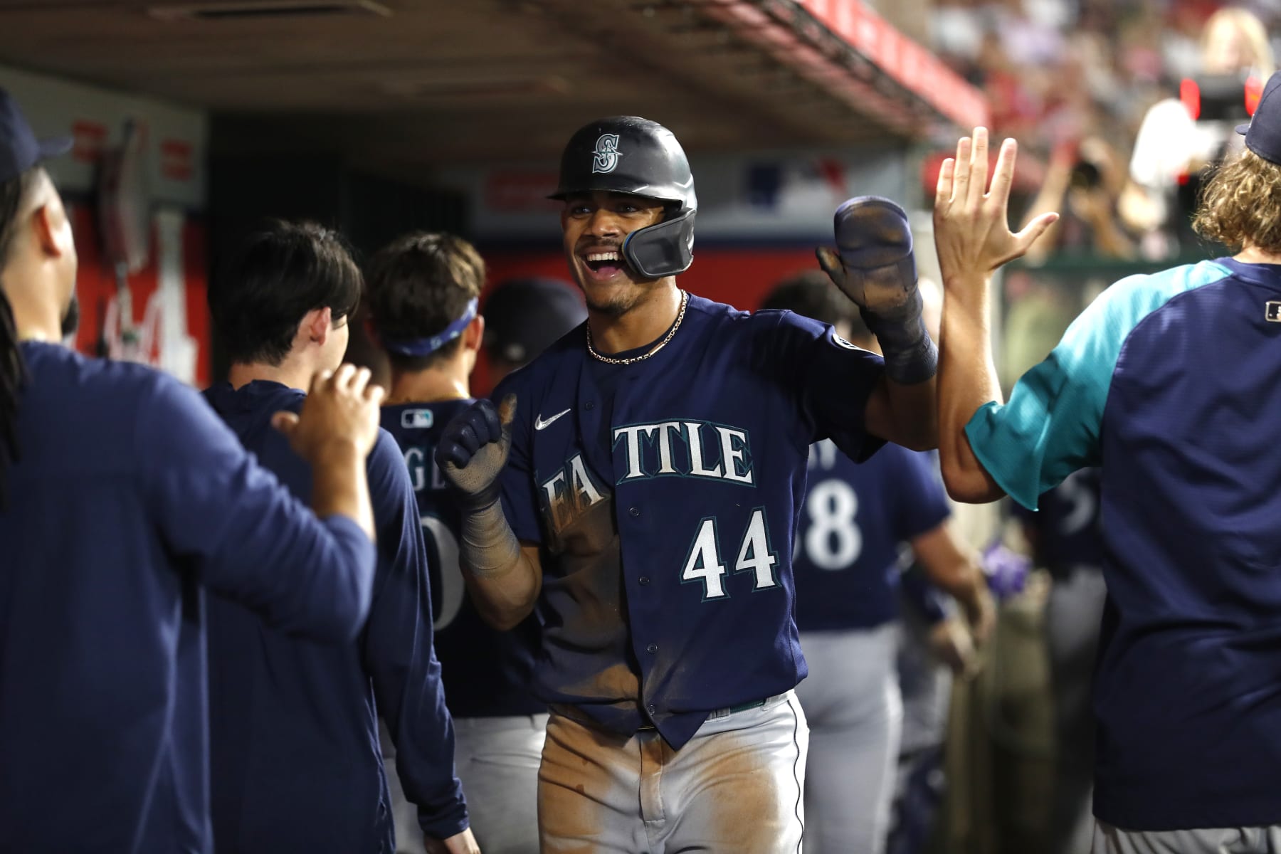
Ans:
[[[1099,465],[1112,374],[1130,333],[1171,298],[1231,275],[1213,261],[1121,279],[1104,291],[1053,352],[966,425],[970,447],[1006,493],[1029,510],[1063,478]]]

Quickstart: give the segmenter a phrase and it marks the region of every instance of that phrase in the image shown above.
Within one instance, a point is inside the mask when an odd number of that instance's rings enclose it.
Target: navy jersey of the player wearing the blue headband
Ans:
[[[547,705],[533,694],[538,618],[529,616],[510,631],[496,631],[471,604],[459,568],[462,512],[450,497],[436,465],[441,430],[471,401],[405,403],[383,407],[383,429],[405,456],[423,538],[432,568],[436,654],[453,717],[542,714]]]

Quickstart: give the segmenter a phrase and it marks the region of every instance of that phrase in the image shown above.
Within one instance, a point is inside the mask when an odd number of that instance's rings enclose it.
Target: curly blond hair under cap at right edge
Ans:
[[[1223,246],[1281,255],[1281,166],[1250,150],[1225,160],[1202,191],[1193,229]]]

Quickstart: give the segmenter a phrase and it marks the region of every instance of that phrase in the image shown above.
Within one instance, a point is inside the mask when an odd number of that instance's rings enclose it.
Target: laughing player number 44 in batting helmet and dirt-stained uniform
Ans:
[[[543,850],[796,851],[790,556],[810,444],[866,458],[935,438],[906,218],[852,200],[842,255],[821,255],[871,306],[883,362],[812,320],[676,287],[697,198],[666,128],[583,127],[555,197],[588,321],[498,387],[501,415],[478,402],[437,448],[478,609],[544,618]]]

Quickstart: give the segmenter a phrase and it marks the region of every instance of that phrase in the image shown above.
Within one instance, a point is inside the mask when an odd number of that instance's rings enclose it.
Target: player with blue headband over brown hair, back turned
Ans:
[[[547,705],[532,693],[538,621],[528,617],[500,632],[471,606],[459,568],[462,512],[433,456],[445,425],[471,405],[469,378],[482,338],[489,339],[477,316],[484,275],[484,261],[466,241],[409,234],[371,259],[369,302],[392,370],[383,426],[409,467],[430,557],[436,649],[471,825],[485,854],[537,854],[538,758],[547,727]]]

